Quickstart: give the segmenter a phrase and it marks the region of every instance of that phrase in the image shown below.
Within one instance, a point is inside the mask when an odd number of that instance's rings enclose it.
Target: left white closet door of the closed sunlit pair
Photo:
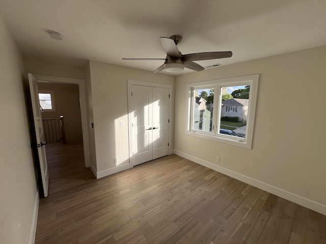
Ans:
[[[133,165],[153,159],[152,87],[131,85]]]

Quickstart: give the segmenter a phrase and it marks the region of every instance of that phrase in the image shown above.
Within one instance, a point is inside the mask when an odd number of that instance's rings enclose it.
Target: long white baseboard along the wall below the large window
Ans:
[[[274,194],[274,195],[277,195],[277,196],[282,197],[284,199],[287,199],[287,200],[289,200],[291,202],[297,203],[297,204],[302,205],[304,207],[310,208],[310,209],[312,209],[314,211],[320,212],[320,214],[326,215],[326,206],[323,205],[323,204],[320,204],[318,202],[315,202],[315,201],[309,200],[307,198],[298,196],[296,194],[287,192],[287,191],[282,190],[280,188],[268,185],[268,184],[266,184],[266,183],[264,183],[262,181],[256,180],[254,178],[248,177],[248,176],[243,175],[243,174],[239,174],[239,173],[234,172],[232,170],[229,170],[229,169],[223,168],[221,166],[212,164],[212,163],[210,163],[208,161],[205,161],[205,160],[196,158],[194,156],[182,153],[182,151],[174,150],[174,154],[176,154],[176,155],[178,155],[178,156],[180,156],[182,158],[191,160],[191,161],[193,161],[195,163],[198,163],[200,165],[203,165],[203,166],[205,166],[207,168],[210,168],[212,170],[215,170],[215,171],[221,172],[223,174],[226,174],[226,175],[228,175],[228,176],[230,176],[232,178],[238,179],[238,180],[240,180],[242,182],[245,182],[245,183],[247,183],[247,184],[249,184],[251,186],[257,187],[257,188],[259,188],[261,190],[264,190],[266,192],[269,192],[271,194]]]

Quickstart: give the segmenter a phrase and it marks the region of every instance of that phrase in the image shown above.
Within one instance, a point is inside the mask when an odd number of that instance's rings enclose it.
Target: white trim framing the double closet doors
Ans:
[[[166,85],[166,84],[158,84],[158,83],[152,83],[152,82],[144,82],[144,81],[136,81],[136,80],[128,80],[128,137],[129,137],[129,161],[130,161],[130,168],[133,167],[133,162],[132,162],[132,126],[131,126],[131,106],[130,106],[130,97],[131,97],[131,92],[130,88],[131,85],[142,85],[142,86],[150,86],[150,87],[161,87],[161,88],[168,88],[169,89],[169,94],[170,94],[170,99],[169,99],[169,155],[172,154],[173,150],[171,149],[171,138],[172,138],[172,129],[171,129],[171,118],[172,118],[172,85]]]

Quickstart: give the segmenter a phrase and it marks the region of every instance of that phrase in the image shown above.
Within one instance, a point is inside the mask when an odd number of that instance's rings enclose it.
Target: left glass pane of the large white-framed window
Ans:
[[[193,130],[211,132],[213,117],[214,89],[194,89]]]

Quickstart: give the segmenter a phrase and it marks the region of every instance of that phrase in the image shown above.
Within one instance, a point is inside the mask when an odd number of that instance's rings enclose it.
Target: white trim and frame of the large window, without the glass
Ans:
[[[185,134],[251,149],[253,131],[254,131],[258,79],[259,79],[259,75],[257,74],[257,75],[188,83],[186,86],[186,92],[187,92],[186,109],[187,110],[186,110]],[[218,106],[215,106],[213,110],[212,125],[214,128],[212,129],[212,132],[192,130],[193,89],[198,89],[198,88],[202,89],[203,87],[211,87],[212,85],[218,87],[214,89],[214,104],[215,104],[218,100],[220,101],[219,103],[221,103],[222,101],[221,87],[248,85],[248,84],[250,85],[250,100],[249,100],[249,110],[248,110],[248,119],[247,119],[247,127],[246,127],[246,138],[239,138],[239,137],[233,137],[229,135],[222,135],[216,133],[217,131],[216,129],[218,128],[217,120],[218,118],[221,117],[221,112],[222,112],[221,111],[222,106],[220,106],[220,104]]]

